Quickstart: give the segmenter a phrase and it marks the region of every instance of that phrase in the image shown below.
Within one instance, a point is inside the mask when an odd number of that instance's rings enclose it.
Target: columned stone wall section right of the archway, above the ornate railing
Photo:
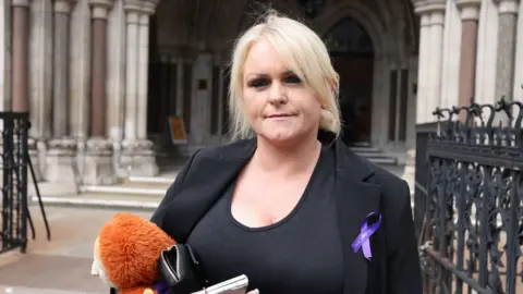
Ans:
[[[416,122],[437,107],[523,99],[520,0],[416,1],[419,71]]]

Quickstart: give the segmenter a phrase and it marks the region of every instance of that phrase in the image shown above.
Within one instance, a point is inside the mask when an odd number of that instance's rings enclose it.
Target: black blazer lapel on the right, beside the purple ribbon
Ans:
[[[378,212],[379,186],[365,182],[374,171],[342,143],[336,143],[338,221],[343,249],[343,293],[364,294],[367,287],[368,262],[362,249],[354,253],[352,244],[361,232],[365,218]]]

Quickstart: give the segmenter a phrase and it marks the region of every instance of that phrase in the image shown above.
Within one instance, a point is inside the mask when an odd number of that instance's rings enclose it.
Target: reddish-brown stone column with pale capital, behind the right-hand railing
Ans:
[[[481,0],[458,0],[461,15],[461,63],[458,106],[469,106],[474,97],[476,77],[477,21]],[[465,114],[461,113],[461,120]]]

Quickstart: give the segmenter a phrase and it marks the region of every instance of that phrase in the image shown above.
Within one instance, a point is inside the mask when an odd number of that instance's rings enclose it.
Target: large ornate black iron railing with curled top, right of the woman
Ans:
[[[523,103],[434,114],[416,147],[425,293],[523,293]]]

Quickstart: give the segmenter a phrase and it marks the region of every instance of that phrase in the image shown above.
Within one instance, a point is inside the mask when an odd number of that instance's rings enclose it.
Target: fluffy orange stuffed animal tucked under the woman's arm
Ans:
[[[160,253],[175,241],[155,223],[132,213],[117,213],[104,224],[94,248],[92,274],[119,294],[161,294]]]

